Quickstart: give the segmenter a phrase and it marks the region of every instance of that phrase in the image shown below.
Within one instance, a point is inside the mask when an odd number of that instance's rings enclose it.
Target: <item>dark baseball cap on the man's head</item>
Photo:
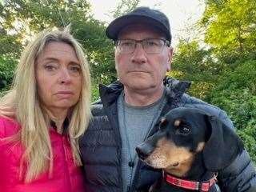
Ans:
[[[171,42],[170,23],[166,14],[146,6],[140,6],[130,13],[114,19],[114,21],[110,22],[110,25],[106,27],[106,36],[110,39],[117,40],[119,32],[124,27],[137,23],[145,23],[154,26],[166,35],[166,40]]]

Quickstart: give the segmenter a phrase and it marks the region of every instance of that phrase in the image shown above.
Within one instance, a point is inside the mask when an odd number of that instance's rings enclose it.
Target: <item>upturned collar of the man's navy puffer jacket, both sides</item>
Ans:
[[[166,86],[166,96],[167,100],[172,101],[174,98],[177,98],[178,95],[184,94],[184,92],[189,89],[190,82],[178,81],[174,78],[165,78],[163,81]],[[102,100],[102,103],[106,106],[111,105],[113,102],[117,101],[119,94],[123,90],[123,85],[121,82],[113,82],[109,86],[99,85],[99,94]]]

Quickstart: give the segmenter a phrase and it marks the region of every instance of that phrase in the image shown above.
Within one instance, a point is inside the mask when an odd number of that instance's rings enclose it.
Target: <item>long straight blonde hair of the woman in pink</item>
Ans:
[[[40,106],[35,77],[35,62],[49,42],[64,42],[72,46],[77,54],[82,69],[82,91],[78,103],[70,112],[68,134],[74,162],[81,166],[78,138],[89,124],[90,113],[90,70],[82,46],[70,34],[70,27],[63,30],[43,30],[30,42],[22,52],[20,62],[14,75],[13,85],[0,99],[0,115],[17,120],[22,129],[14,140],[25,147],[21,160],[22,166],[26,159],[26,182],[37,178],[43,171],[53,169],[53,151],[49,134],[49,119],[45,110]],[[48,117],[49,118],[49,117]]]

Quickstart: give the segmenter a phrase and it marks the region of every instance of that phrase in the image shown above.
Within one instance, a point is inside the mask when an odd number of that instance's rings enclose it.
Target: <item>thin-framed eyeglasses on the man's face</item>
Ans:
[[[134,50],[132,52],[122,52],[121,49],[118,47],[120,41],[127,41],[127,40],[135,42]],[[161,50],[159,50],[159,52],[157,52],[157,53],[148,53],[146,51],[146,49],[144,48],[144,46],[143,46],[143,42],[146,42],[146,41],[149,41],[149,40],[162,40],[163,44],[162,44]],[[114,46],[117,47],[119,53],[121,53],[121,54],[133,54],[134,51],[136,50],[136,47],[137,47],[138,43],[140,43],[142,45],[142,48],[143,48],[143,50],[145,51],[146,54],[160,54],[162,52],[164,46],[170,47],[170,42],[168,40],[164,39],[164,38],[145,38],[145,39],[142,39],[142,40],[117,39],[117,40],[114,41]]]

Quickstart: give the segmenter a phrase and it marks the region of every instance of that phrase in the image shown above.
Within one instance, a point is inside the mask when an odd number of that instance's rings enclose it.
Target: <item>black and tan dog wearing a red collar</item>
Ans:
[[[175,108],[158,125],[158,131],[136,147],[143,162],[163,170],[150,192],[215,192],[218,171],[244,149],[234,130],[203,110]]]

